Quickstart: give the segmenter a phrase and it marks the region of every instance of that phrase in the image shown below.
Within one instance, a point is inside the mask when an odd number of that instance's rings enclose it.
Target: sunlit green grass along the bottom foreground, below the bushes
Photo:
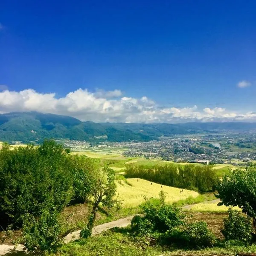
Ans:
[[[239,252],[256,251],[256,245],[238,245],[220,242],[218,246],[201,250],[179,249],[175,246],[161,247],[152,245],[143,238],[133,238],[128,234],[129,228],[115,228],[101,235],[81,239],[62,246],[57,256],[212,256],[236,255]]]

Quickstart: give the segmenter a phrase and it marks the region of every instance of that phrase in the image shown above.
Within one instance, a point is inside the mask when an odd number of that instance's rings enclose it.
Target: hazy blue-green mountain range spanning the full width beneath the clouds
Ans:
[[[209,133],[220,130],[255,130],[256,123],[190,122],[182,124],[130,124],[82,122],[70,116],[38,112],[0,114],[0,141],[42,141],[45,138],[98,141],[149,141],[173,134]]]

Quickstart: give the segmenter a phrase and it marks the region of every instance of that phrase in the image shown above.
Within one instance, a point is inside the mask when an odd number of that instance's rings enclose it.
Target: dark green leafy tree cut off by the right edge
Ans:
[[[240,207],[256,224],[255,184],[255,166],[247,167],[246,170],[234,170],[230,175],[225,175],[217,187],[217,198],[221,199],[219,205]]]

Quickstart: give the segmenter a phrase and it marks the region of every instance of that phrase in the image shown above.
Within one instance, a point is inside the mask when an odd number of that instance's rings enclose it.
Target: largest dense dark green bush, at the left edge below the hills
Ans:
[[[73,196],[67,166],[64,148],[53,141],[14,150],[5,145],[0,150],[0,224],[21,227],[22,215],[38,217],[46,205],[60,212]]]

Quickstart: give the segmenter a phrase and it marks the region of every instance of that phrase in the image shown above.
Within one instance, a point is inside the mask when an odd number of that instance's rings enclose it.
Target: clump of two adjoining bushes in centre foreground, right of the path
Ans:
[[[150,199],[142,206],[143,217],[131,221],[131,233],[157,239],[160,244],[177,244],[187,248],[212,246],[216,238],[204,221],[187,223],[179,208],[160,200]]]

